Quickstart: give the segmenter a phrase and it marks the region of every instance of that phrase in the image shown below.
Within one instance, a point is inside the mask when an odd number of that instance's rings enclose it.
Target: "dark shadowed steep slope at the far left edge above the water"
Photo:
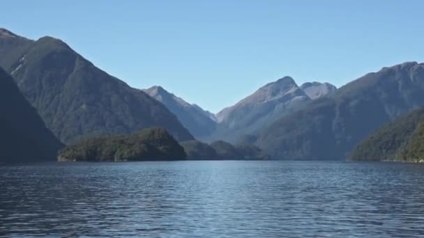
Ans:
[[[0,163],[54,160],[63,146],[0,68]]]

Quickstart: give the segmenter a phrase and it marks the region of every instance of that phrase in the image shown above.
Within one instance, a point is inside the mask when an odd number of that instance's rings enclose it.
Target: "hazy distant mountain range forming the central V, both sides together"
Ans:
[[[190,133],[201,141],[224,140],[237,143],[286,114],[301,109],[306,103],[331,94],[335,86],[318,82],[298,87],[291,77],[266,84],[255,93],[216,115],[196,104],[169,93],[161,86],[144,91],[167,106]]]

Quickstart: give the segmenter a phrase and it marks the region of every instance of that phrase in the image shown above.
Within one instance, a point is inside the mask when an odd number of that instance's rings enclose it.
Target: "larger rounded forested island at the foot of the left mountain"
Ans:
[[[147,161],[185,159],[184,148],[165,129],[91,138],[59,152],[59,161]]]

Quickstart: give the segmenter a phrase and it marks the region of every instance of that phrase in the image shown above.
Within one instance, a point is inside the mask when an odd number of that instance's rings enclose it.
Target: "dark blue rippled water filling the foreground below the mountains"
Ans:
[[[0,235],[423,237],[424,166],[176,161],[0,167]]]

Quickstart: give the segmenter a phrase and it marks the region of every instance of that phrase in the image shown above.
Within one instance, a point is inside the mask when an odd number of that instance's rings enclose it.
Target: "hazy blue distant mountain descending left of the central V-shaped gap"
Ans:
[[[176,97],[160,86],[153,86],[145,89],[144,92],[164,104],[169,111],[172,111],[183,126],[196,138],[209,135],[215,130],[215,116],[196,104],[189,104],[181,97]]]

